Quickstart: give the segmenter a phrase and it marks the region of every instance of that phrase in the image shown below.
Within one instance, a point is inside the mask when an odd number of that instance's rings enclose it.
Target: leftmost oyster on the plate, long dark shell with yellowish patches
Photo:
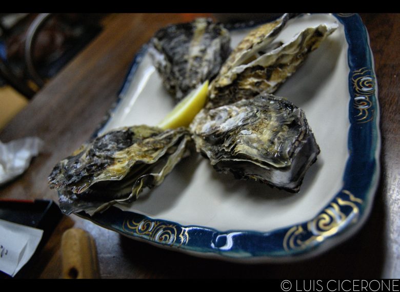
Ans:
[[[92,215],[116,203],[136,200],[159,185],[188,154],[186,128],[133,126],[113,130],[82,145],[57,163],[48,180],[66,214]]]

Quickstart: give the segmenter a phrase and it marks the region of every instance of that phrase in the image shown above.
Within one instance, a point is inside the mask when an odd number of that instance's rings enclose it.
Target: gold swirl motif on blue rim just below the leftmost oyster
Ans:
[[[163,221],[143,219],[140,222],[135,222],[134,219],[128,218],[124,221],[123,230],[165,245],[178,243],[181,246],[182,244],[187,244],[189,240],[186,228],[177,227],[174,224]],[[179,230],[181,230],[180,233],[178,232]]]

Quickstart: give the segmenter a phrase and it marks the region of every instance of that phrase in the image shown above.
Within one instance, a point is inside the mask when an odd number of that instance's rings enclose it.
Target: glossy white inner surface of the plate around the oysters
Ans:
[[[321,148],[321,154],[305,176],[297,194],[272,189],[253,181],[235,180],[216,173],[200,155],[186,158],[163,184],[145,191],[122,210],[182,225],[227,230],[268,232],[312,219],[341,190],[346,160],[349,67],[343,25],[327,14],[290,20],[277,40],[289,40],[297,32],[321,23],[335,23],[337,30],[312,52],[304,65],[275,95],[302,108]],[[232,47],[249,30],[233,31]],[[148,55],[102,132],[122,126],[155,126],[174,107]]]

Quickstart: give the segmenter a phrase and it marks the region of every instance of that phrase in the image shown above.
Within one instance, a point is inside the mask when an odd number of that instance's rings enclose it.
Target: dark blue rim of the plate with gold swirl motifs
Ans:
[[[344,26],[349,46],[349,158],[342,190],[313,219],[263,233],[250,230],[218,231],[205,226],[181,225],[117,207],[110,207],[92,217],[84,212],[76,215],[159,247],[239,262],[304,259],[322,253],[352,236],[370,214],[380,175],[377,81],[369,36],[361,17],[355,13],[332,15]],[[238,24],[233,29],[254,25]],[[105,127],[119,101],[124,98],[146,52],[147,44],[135,55],[116,102],[93,136]]]

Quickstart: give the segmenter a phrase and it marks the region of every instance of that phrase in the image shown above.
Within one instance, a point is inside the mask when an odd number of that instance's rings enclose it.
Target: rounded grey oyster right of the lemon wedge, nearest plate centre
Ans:
[[[218,172],[290,192],[299,191],[319,154],[303,110],[270,94],[203,109],[190,130],[197,152]]]

